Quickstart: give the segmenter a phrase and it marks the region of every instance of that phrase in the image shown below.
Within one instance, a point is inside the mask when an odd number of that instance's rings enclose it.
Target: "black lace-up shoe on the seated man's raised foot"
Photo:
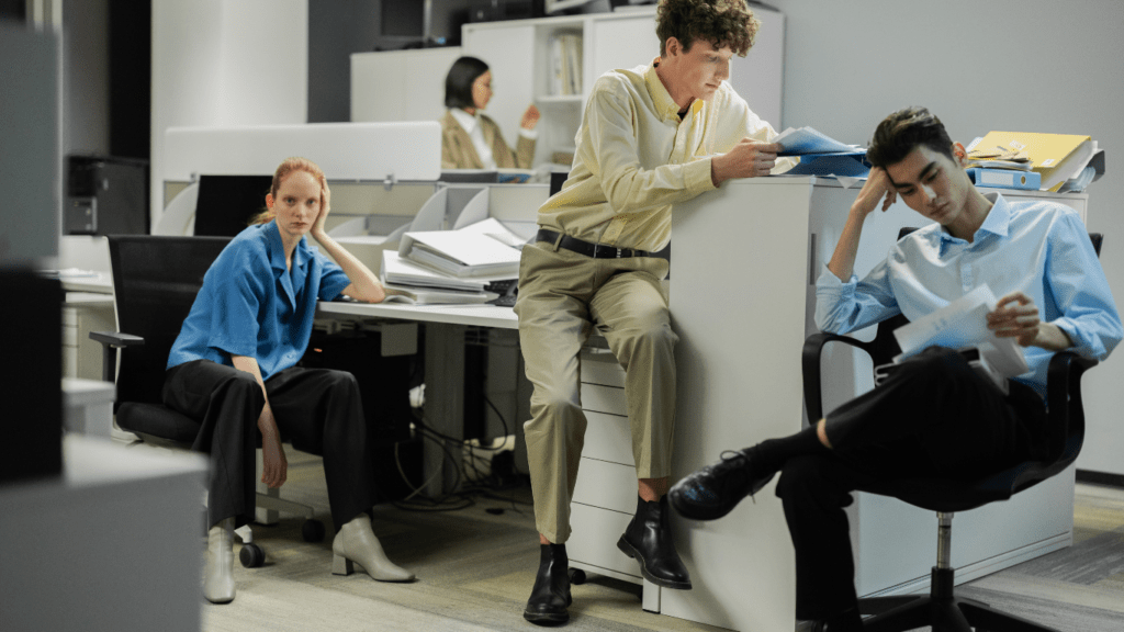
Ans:
[[[733,511],[742,498],[760,491],[776,473],[776,469],[761,464],[755,448],[724,452],[722,461],[688,475],[672,486],[668,496],[683,517],[716,520]]]

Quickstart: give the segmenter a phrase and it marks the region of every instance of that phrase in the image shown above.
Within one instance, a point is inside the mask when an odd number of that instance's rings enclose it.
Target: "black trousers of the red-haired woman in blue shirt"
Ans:
[[[374,462],[355,378],[346,371],[293,367],[265,380],[265,391],[281,436],[302,452],[324,457],[335,527],[370,512]],[[192,448],[210,454],[208,525],[228,517],[239,526],[250,522],[257,417],[265,406],[257,381],[245,371],[196,360],[169,369],[163,398],[167,407],[200,421]]]

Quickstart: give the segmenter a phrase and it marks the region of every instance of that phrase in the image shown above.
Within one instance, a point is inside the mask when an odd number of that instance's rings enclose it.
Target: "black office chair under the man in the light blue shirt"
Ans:
[[[903,228],[898,238],[916,228]],[[1102,235],[1089,234],[1093,246],[1100,254]],[[908,323],[896,316],[878,325],[878,334],[870,342],[851,336],[817,333],[804,344],[804,401],[808,419],[824,416],[819,364],[824,345],[841,342],[865,351],[874,365],[890,362],[900,352],[894,329]],[[1044,461],[1024,461],[991,476],[972,481],[940,478],[899,479],[862,491],[892,496],[910,505],[936,512],[937,553],[932,584],[927,596],[903,595],[867,597],[859,599],[859,611],[874,616],[864,620],[863,630],[871,632],[905,632],[931,625],[935,632],[1058,632],[1052,628],[1003,613],[987,604],[957,597],[953,590],[954,569],[952,557],[952,515],[980,507],[1013,495],[1061,472],[1077,460],[1085,440],[1085,410],[1081,406],[1081,373],[1095,367],[1096,360],[1071,352],[1059,352],[1050,360],[1046,394],[1050,401],[1049,428],[1051,454]]]

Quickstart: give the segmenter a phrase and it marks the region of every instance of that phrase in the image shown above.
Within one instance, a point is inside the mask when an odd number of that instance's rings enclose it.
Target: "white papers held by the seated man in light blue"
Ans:
[[[1030,370],[1023,347],[1015,338],[997,337],[987,328],[987,314],[995,309],[991,288],[982,285],[949,305],[894,331],[901,347],[895,363],[934,345],[955,349],[969,358],[977,372],[1006,392],[1007,378]],[[883,369],[883,373],[888,368]],[[876,376],[879,372],[876,369]]]

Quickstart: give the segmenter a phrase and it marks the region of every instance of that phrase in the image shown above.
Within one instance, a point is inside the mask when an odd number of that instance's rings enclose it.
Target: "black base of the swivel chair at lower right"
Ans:
[[[864,632],[905,632],[931,625],[933,632],[1059,632],[1040,623],[999,612],[985,603],[953,594],[953,570],[933,568],[928,596],[859,599],[862,614],[873,614]]]

